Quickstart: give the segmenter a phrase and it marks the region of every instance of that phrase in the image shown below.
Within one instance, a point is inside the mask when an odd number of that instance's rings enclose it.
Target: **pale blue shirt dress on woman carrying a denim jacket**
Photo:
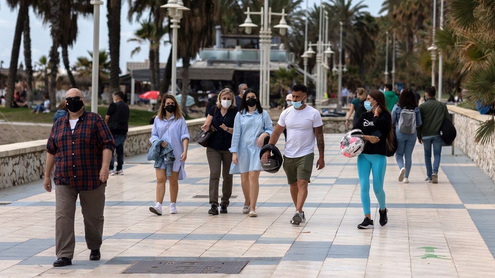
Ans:
[[[170,124],[170,128],[167,127]],[[159,136],[167,130],[163,136],[160,138]],[[184,170],[184,161],[181,160],[181,154],[184,152],[184,145],[182,144],[182,140],[191,139],[189,135],[189,130],[187,128],[186,120],[184,117],[181,117],[179,120],[175,120],[175,115],[172,115],[170,120],[163,118],[160,120],[159,117],[156,117],[153,122],[153,128],[151,129],[151,138],[149,141],[151,143],[156,139],[162,139],[170,144],[170,146],[174,149],[173,153],[175,156],[174,164],[172,165],[172,171],[179,172],[179,180],[183,180],[186,178],[186,171]],[[165,169],[165,163],[161,164],[160,169]]]

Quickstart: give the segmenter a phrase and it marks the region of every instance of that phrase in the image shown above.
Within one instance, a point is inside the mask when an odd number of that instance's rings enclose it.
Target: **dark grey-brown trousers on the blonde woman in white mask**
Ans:
[[[228,207],[229,199],[232,195],[232,175],[229,174],[232,153],[228,150],[216,150],[207,147],[206,158],[210,166],[210,205],[218,206],[218,185],[220,183],[220,173],[222,173],[222,202],[220,205]]]

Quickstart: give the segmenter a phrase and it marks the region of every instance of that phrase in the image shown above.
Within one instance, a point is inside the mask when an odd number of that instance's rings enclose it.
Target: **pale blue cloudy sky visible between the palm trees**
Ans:
[[[313,3],[319,4],[320,0],[308,0],[309,6]],[[99,32],[99,49],[108,50],[108,27],[106,18],[106,0],[103,0],[104,4],[100,6],[100,32]],[[165,3],[166,1],[163,0]],[[358,0],[353,0],[357,3]],[[368,11],[374,15],[378,15],[383,0],[364,0],[364,4],[368,5]],[[303,4],[303,7],[305,4]],[[133,37],[134,31],[139,28],[139,23],[129,22],[127,20],[127,11],[129,10],[128,1],[122,1],[121,12],[121,42],[120,42],[120,69],[122,73],[126,73],[126,62],[139,62],[148,58],[149,45],[142,45],[141,51],[134,54],[131,57],[131,51],[139,46],[135,42],[127,42],[128,39]],[[31,25],[31,48],[32,48],[32,60],[33,63],[38,61],[41,56],[49,56],[49,50],[51,47],[50,29],[49,24],[44,25],[42,20],[38,18],[32,9],[29,12],[30,25]],[[17,19],[17,8],[11,10],[8,8],[6,0],[0,0],[0,60],[3,61],[3,68],[8,68],[10,64],[10,54],[12,49],[12,40],[14,38],[15,23]],[[77,57],[86,56],[89,57],[88,50],[93,49],[93,15],[87,18],[80,17],[78,19],[79,34],[74,46],[69,48],[69,60],[73,65]],[[171,46],[160,46],[160,62],[165,63],[168,58]],[[19,55],[20,64],[24,64],[24,52],[21,43],[21,52]],[[59,49],[61,52],[61,49]],[[61,57],[60,57],[61,58]],[[63,67],[62,63],[60,66]]]

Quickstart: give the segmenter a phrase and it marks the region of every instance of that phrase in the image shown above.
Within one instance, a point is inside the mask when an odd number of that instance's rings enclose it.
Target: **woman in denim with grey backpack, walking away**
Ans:
[[[412,164],[412,151],[416,144],[416,128],[421,126],[421,115],[414,92],[405,88],[392,109],[392,122],[395,124],[397,150],[396,161],[399,167],[399,182],[409,183],[409,172]],[[405,164],[404,164],[405,158]]]

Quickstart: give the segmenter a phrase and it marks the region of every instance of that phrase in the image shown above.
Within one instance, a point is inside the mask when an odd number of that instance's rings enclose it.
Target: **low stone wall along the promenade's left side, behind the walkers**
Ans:
[[[186,121],[191,141],[197,141],[204,118]],[[152,125],[130,128],[124,155],[147,153]],[[42,179],[45,175],[47,139],[0,145],[0,189]]]

